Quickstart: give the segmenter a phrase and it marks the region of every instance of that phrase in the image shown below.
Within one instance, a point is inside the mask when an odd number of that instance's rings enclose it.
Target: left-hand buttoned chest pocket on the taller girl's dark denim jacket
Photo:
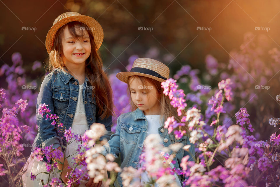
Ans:
[[[53,103],[55,114],[66,113],[69,105],[70,91],[66,89],[53,89]]]

